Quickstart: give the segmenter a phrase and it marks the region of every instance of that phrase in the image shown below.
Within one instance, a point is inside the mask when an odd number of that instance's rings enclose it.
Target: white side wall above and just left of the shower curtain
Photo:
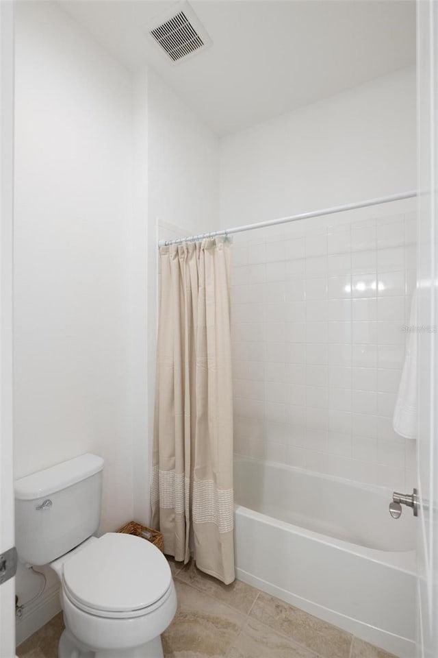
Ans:
[[[148,80],[150,460],[157,335],[157,241],[214,230],[218,226],[219,140],[155,73],[150,71]]]

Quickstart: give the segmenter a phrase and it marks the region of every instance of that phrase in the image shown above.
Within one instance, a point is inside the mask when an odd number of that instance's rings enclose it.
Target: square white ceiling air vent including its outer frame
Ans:
[[[211,45],[211,39],[187,2],[174,5],[148,26],[155,43],[173,64]]]

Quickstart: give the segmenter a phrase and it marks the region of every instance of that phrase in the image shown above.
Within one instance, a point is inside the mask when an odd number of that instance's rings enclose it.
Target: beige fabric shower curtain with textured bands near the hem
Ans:
[[[234,573],[229,239],[160,249],[153,524],[164,552]]]

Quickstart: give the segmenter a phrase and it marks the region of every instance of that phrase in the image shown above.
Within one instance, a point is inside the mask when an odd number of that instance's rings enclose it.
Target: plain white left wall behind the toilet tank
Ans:
[[[15,475],[100,454],[101,531],[114,530],[133,517],[137,356],[142,365],[132,80],[56,6],[16,10]],[[38,590],[28,584],[18,578],[21,601]]]

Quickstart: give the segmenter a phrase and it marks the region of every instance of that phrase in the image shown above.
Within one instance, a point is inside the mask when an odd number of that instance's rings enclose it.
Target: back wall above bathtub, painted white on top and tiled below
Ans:
[[[222,227],[415,188],[415,72],[221,143]],[[235,450],[389,487],[415,446],[391,428],[415,280],[414,202],[235,236]]]

